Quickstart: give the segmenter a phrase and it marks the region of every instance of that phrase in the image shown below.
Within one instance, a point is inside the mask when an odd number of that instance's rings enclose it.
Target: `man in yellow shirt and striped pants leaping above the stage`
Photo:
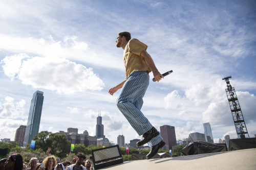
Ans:
[[[165,145],[163,138],[155,127],[140,111],[143,104],[143,96],[150,83],[150,76],[153,71],[156,81],[163,76],[157,70],[151,56],[146,52],[147,45],[133,38],[129,32],[121,32],[117,35],[116,46],[122,47],[123,62],[126,68],[126,77],[117,86],[111,88],[109,93],[113,95],[118,89],[121,92],[117,99],[117,107],[129,121],[134,130],[142,135],[142,139],[136,143],[137,147],[148,143],[151,147],[147,159],[157,154],[158,150]]]

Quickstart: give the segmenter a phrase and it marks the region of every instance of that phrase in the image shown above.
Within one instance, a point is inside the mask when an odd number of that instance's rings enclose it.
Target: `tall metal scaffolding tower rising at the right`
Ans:
[[[240,108],[240,104],[238,101],[236,91],[230,85],[228,79],[231,79],[231,76],[225,77],[222,80],[225,80],[227,83],[226,93],[227,93],[227,99],[229,102],[230,110],[231,110],[233,120],[234,120],[234,126],[236,127],[238,137],[246,138],[245,134],[247,134],[248,137],[249,137],[249,134],[247,132],[247,128],[246,128],[246,125],[244,122],[244,116],[243,116],[243,113]]]

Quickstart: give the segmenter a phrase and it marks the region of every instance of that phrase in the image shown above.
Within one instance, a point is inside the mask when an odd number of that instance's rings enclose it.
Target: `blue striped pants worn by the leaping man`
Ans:
[[[143,135],[153,127],[140,111],[143,105],[142,98],[149,83],[150,77],[147,71],[134,71],[123,84],[117,98],[118,109],[139,135]],[[158,135],[147,144],[149,147],[152,147],[158,144],[162,139],[163,138]]]

